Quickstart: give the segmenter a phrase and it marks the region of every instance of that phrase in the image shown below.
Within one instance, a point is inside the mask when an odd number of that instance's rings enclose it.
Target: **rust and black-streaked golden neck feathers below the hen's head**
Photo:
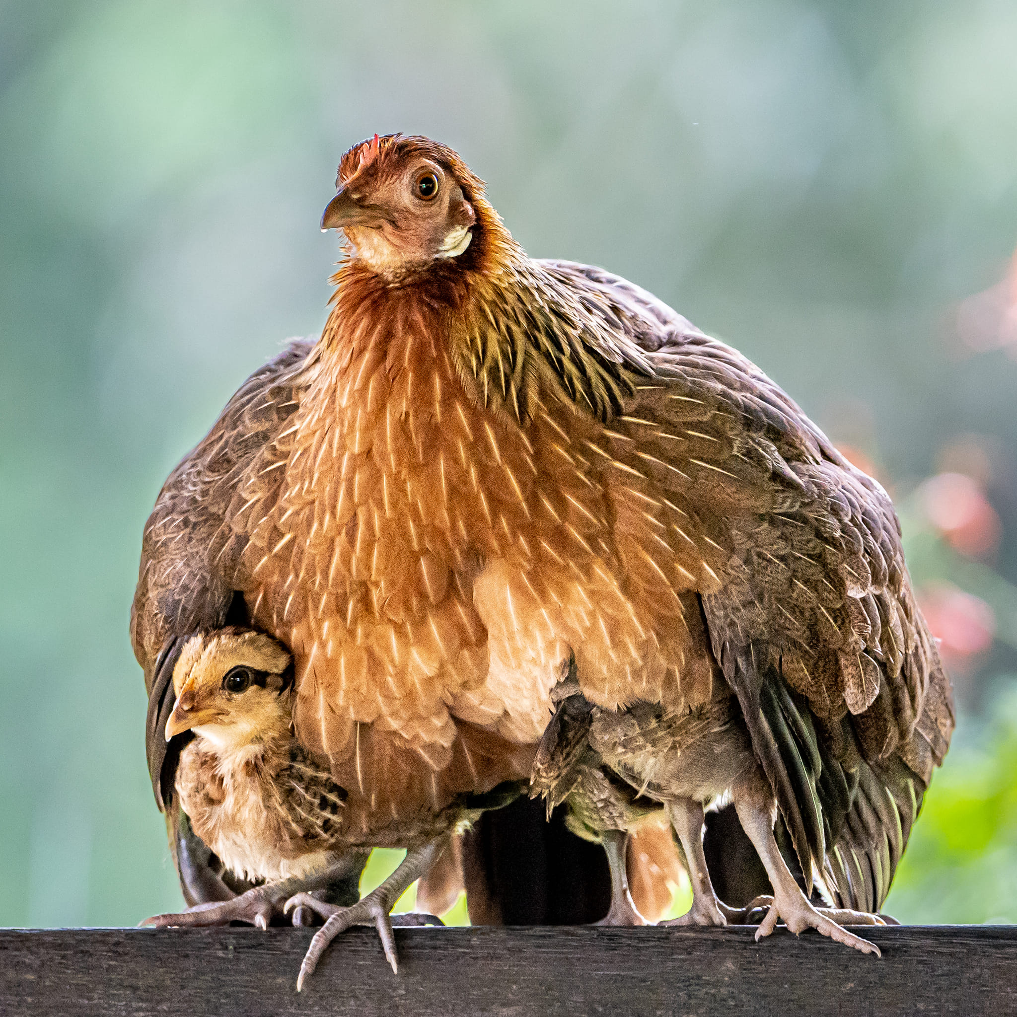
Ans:
[[[422,343],[450,358],[475,406],[523,425],[547,401],[601,421],[622,412],[636,379],[651,372],[643,351],[619,342],[623,311],[528,258],[483,195],[471,200],[474,239],[459,257],[397,280],[356,259],[342,265],[324,356],[351,363],[364,343],[380,341],[398,357]]]

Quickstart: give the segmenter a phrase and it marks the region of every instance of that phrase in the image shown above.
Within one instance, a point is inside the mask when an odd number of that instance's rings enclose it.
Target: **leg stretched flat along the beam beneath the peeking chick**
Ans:
[[[320,892],[333,885],[359,879],[367,862],[369,851],[351,851],[335,864],[309,876],[292,876],[263,886],[252,887],[231,900],[196,904],[176,914],[157,914],[145,918],[142,925],[157,929],[195,925],[228,925],[231,921],[246,921],[258,929],[267,929],[273,918],[282,916],[284,905],[300,892]],[[293,924],[308,925],[313,920],[313,910],[302,907],[293,912]]]

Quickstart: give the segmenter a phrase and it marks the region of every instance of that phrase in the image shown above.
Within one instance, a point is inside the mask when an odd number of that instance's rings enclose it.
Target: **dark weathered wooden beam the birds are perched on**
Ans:
[[[337,941],[300,995],[307,930],[0,931],[0,1013],[979,1014],[1017,1012],[1017,929],[865,930],[882,960],[779,929],[397,930]]]

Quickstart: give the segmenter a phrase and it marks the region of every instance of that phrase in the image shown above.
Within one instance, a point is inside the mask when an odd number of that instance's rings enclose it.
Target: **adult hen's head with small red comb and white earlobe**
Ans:
[[[458,258],[493,217],[483,181],[446,145],[390,134],[355,144],[321,229],[342,229],[351,256],[381,275]]]

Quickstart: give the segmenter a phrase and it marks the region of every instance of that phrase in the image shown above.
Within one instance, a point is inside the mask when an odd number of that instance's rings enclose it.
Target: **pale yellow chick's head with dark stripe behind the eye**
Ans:
[[[193,730],[214,744],[244,745],[289,731],[293,657],[250,629],[192,636],[173,669],[176,706],[166,740]]]

